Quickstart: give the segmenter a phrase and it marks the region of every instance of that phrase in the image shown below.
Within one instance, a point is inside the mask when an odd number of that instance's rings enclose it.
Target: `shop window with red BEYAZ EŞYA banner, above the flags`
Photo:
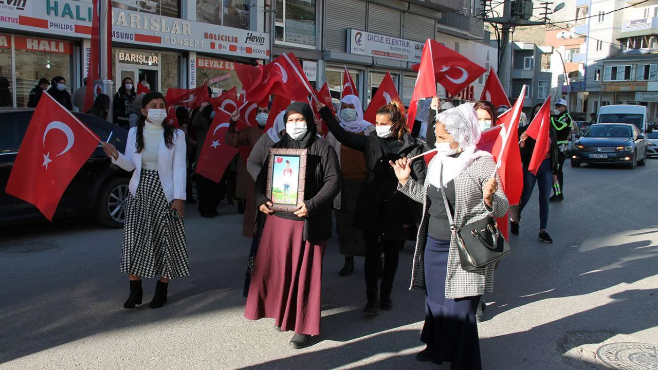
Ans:
[[[221,90],[230,90],[236,86],[238,93],[242,90],[242,84],[235,71],[233,61],[197,56],[197,86],[208,81],[208,86],[213,90],[213,95]]]

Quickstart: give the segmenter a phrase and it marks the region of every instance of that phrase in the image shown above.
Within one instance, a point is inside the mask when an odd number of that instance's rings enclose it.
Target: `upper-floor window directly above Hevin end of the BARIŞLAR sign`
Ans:
[[[197,20],[249,30],[249,0],[197,0]]]

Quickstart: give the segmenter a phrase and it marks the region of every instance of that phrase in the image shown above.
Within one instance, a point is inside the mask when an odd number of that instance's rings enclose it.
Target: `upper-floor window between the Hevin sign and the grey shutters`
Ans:
[[[315,0],[276,1],[276,41],[315,46]]]

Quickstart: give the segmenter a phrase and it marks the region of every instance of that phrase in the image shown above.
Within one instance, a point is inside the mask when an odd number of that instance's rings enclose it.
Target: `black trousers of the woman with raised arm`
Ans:
[[[379,279],[381,255],[384,253],[384,279],[382,280],[382,295],[390,294],[393,290],[393,279],[397,272],[400,259],[400,250],[404,246],[403,240],[386,240],[380,238],[376,232],[363,232],[366,244],[365,276],[368,299],[377,296],[377,280]]]

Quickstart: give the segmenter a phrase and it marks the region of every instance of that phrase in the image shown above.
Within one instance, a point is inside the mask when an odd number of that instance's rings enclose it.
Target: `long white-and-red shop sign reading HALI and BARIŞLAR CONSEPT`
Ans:
[[[53,36],[91,38],[91,2],[74,0],[0,0],[0,27]],[[112,40],[168,49],[268,59],[270,38],[253,32],[112,9]]]

